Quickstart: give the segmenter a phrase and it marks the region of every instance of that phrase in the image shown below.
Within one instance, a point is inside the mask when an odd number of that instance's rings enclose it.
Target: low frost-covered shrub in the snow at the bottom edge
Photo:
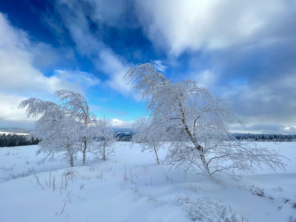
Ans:
[[[189,197],[177,196],[176,205],[184,207],[190,218],[203,222],[237,222],[239,215],[223,202],[213,202],[208,198],[192,201]]]

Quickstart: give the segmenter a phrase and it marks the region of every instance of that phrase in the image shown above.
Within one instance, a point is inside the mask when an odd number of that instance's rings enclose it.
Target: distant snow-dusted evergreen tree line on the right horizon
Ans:
[[[274,142],[292,142],[296,141],[296,134],[252,134],[252,133],[234,133],[236,139],[255,140],[255,141],[274,141]]]

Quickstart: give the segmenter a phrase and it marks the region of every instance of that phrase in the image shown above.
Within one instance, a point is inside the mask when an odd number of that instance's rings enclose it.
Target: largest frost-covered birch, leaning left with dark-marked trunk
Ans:
[[[146,101],[155,132],[170,141],[167,164],[184,170],[198,167],[208,177],[220,173],[240,177],[239,172],[255,173],[255,166],[262,168],[262,164],[285,170],[278,152],[238,141],[230,133],[228,124],[244,127],[245,123],[227,97],[214,96],[193,80],[172,82],[152,63],[136,65],[126,78],[134,84],[132,91]]]

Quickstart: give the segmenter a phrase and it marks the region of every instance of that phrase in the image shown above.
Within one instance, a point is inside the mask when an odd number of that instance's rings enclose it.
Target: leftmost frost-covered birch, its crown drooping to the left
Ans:
[[[44,153],[44,158],[53,160],[54,155],[62,156],[65,162],[74,166],[76,150],[73,131],[75,120],[62,106],[50,101],[42,101],[36,98],[26,99],[21,102],[19,108],[25,108],[27,118],[41,117],[35,122],[34,130],[27,136],[27,140],[41,139],[36,155]]]

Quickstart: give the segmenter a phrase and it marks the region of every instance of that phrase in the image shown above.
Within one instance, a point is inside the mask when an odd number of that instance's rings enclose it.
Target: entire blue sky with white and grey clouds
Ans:
[[[20,101],[83,94],[129,128],[143,102],[123,76],[154,62],[173,81],[229,95],[233,132],[296,133],[296,1],[2,1],[0,127],[33,128]]]

